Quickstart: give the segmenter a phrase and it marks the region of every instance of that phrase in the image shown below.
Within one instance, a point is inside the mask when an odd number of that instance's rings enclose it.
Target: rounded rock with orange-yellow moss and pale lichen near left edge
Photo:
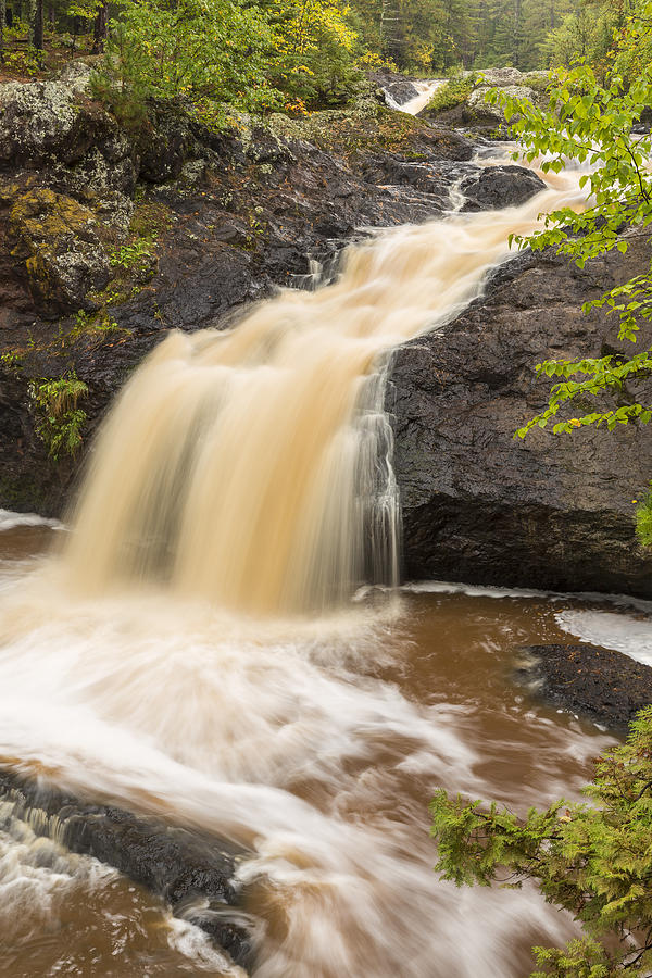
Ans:
[[[12,255],[46,314],[88,308],[86,296],[111,277],[92,213],[53,190],[30,190],[9,215]]]

